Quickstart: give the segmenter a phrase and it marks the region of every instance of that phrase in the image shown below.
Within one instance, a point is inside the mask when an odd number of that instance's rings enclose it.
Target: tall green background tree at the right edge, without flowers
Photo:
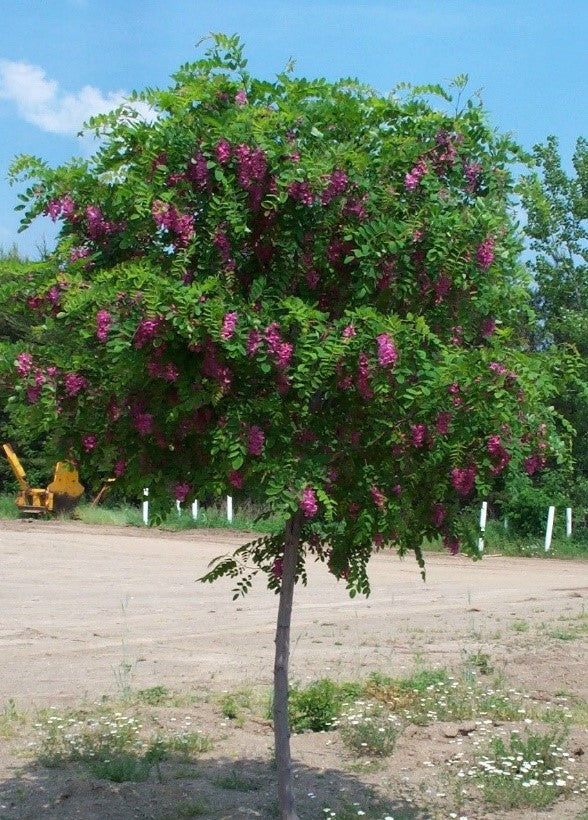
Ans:
[[[576,142],[575,175],[562,168],[555,137],[537,145],[539,172],[521,187],[526,233],[533,256],[533,304],[539,319],[535,343],[578,356],[556,406],[576,431],[573,456],[579,486],[588,486],[588,142]],[[586,503],[586,501],[584,501]]]

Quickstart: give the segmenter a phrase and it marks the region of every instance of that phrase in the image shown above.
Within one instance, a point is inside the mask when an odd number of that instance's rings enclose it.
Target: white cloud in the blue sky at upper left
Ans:
[[[0,60],[0,99],[14,103],[24,120],[52,134],[75,135],[90,117],[111,111],[125,98],[124,91],[104,95],[91,85],[67,94],[40,66]],[[147,114],[146,106],[134,107]]]

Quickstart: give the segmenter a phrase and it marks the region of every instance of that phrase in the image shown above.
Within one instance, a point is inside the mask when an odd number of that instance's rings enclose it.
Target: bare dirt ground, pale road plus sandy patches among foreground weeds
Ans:
[[[190,720],[216,737],[197,772],[166,777],[159,771],[147,783],[122,784],[76,769],[46,769],[14,738],[0,737],[0,820],[276,816],[271,727],[259,718],[232,726],[214,704],[223,692],[270,689],[277,599],[261,579],[237,601],[230,581],[196,583],[212,558],[248,537],[0,522],[0,708],[12,699],[32,714],[165,686],[212,693],[191,707]],[[432,554],[423,583],[412,558],[381,553],[370,578],[371,596],[352,600],[322,565],[309,568],[308,586],[295,594],[292,681],[359,680],[371,672],[403,677],[415,664],[458,670],[477,653],[535,702],[557,704],[562,693],[587,697],[586,635],[562,639],[565,625],[585,612],[587,563],[498,557],[473,563]],[[365,801],[387,800],[381,817],[395,820],[540,816],[490,814],[475,802],[453,812],[430,769],[455,752],[449,744],[456,737],[468,741],[471,727],[462,729],[410,727],[392,762],[365,774],[354,770],[334,733],[293,737],[301,818],[327,816],[324,808],[341,795],[349,795],[349,806],[358,804],[356,815]],[[584,770],[587,741],[585,730],[571,741]],[[215,792],[219,773],[236,766],[255,788]],[[190,803],[197,798],[208,813]],[[366,815],[379,816],[371,811]],[[582,811],[577,796],[547,814],[586,817]]]

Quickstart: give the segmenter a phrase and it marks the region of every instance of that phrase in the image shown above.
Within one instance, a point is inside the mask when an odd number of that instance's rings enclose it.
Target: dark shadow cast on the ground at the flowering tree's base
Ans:
[[[336,812],[337,820],[426,820],[402,799],[384,800],[353,774],[295,765],[300,820]],[[209,820],[276,818],[276,776],[270,761],[208,758],[154,764],[143,782],[114,783],[78,763],[14,767],[0,786],[0,820]],[[364,815],[359,812],[365,812]]]

